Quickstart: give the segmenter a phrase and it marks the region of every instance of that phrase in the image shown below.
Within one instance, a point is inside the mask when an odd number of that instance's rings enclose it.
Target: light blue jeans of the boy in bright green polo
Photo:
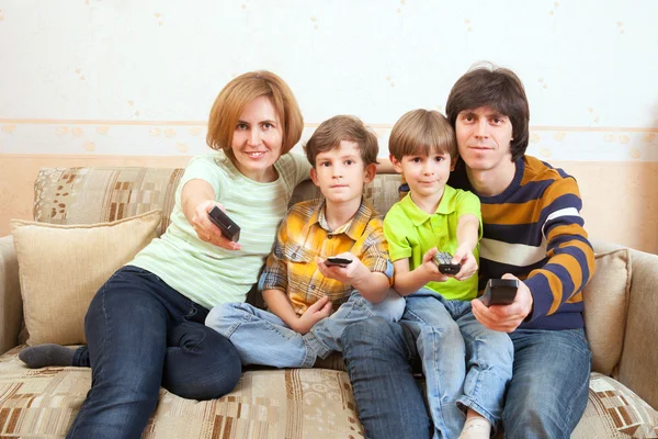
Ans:
[[[427,289],[407,296],[400,324],[416,338],[434,437],[460,436],[467,408],[496,426],[512,378],[510,337],[484,327],[470,302],[447,301]]]

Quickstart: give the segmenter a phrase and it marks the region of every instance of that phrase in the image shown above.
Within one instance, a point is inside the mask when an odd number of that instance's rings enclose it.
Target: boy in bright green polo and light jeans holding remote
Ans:
[[[400,324],[413,334],[422,359],[433,436],[489,438],[501,419],[513,349],[507,334],[485,328],[470,311],[483,232],[479,200],[446,185],[457,145],[439,112],[406,113],[388,145],[409,193],[386,214],[384,234],[394,288],[407,301]],[[433,260],[436,251],[454,255],[460,271],[442,274]]]

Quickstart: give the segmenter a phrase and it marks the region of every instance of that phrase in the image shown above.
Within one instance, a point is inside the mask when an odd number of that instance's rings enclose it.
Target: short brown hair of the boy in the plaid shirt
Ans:
[[[359,117],[349,115],[333,116],[316,128],[304,145],[308,162],[315,168],[318,154],[338,147],[341,140],[359,144],[363,166],[377,164],[377,154],[379,153],[377,136]]]

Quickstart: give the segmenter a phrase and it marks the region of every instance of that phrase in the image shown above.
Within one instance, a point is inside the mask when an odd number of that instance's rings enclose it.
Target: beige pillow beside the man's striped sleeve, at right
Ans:
[[[594,275],[585,286],[585,327],[592,370],[610,375],[620,361],[631,288],[627,248],[595,255]]]

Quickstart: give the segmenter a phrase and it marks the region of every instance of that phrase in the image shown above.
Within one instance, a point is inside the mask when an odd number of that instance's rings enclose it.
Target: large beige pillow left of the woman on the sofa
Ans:
[[[159,223],[160,210],[88,225],[12,219],[27,345],[84,344],[93,295],[156,237]]]

